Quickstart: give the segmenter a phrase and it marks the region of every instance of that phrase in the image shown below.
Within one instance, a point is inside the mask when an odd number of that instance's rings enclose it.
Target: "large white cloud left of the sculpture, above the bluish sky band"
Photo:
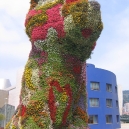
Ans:
[[[1,1],[0,56],[11,56],[23,60],[28,56],[30,42],[26,39],[24,32],[25,14],[28,9],[29,0]]]

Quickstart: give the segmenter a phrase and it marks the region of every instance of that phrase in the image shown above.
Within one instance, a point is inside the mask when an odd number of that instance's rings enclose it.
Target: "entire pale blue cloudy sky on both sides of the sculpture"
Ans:
[[[31,49],[24,27],[29,2],[0,0],[0,78],[10,79],[12,85]],[[122,90],[129,90],[129,0],[98,2],[104,29],[87,63],[113,72]]]

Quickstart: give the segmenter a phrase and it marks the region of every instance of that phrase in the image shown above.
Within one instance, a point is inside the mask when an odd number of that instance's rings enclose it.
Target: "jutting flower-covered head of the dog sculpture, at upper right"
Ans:
[[[66,0],[62,15],[67,53],[74,54],[83,61],[88,59],[103,29],[100,4],[97,1]]]

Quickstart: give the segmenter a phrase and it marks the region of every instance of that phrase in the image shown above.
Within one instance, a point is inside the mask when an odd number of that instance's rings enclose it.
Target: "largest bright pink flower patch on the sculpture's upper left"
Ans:
[[[31,39],[33,42],[36,40],[44,40],[50,27],[53,27],[57,31],[59,38],[65,36],[64,19],[60,15],[60,7],[61,4],[58,4],[46,11],[48,15],[47,22],[41,26],[34,27],[32,30]]]

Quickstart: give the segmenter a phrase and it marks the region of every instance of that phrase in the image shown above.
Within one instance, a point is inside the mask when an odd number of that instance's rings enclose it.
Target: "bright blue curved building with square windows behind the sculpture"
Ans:
[[[120,128],[119,102],[114,73],[87,64],[89,127],[91,129]]]

